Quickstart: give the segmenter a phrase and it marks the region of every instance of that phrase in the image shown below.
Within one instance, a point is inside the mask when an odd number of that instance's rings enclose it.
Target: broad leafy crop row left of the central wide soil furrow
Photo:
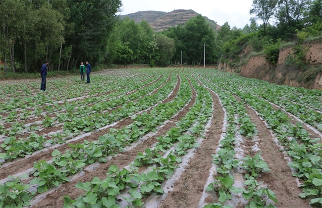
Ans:
[[[151,202],[149,198],[145,204],[142,199],[153,194],[165,195],[168,189],[163,186],[164,182],[172,177],[188,150],[199,146],[197,138],[203,136],[205,124],[212,115],[210,93],[198,86],[195,80],[191,82],[197,92],[195,104],[175,127],[157,138],[159,142],[154,147],[138,153],[127,168],[119,169],[112,165],[105,179],[94,178],[91,182],[76,184],[86,193],[75,200],[65,196],[64,207],[148,207],[151,203],[160,203]],[[146,169],[139,171],[141,166]],[[126,203],[120,203],[118,199]]]

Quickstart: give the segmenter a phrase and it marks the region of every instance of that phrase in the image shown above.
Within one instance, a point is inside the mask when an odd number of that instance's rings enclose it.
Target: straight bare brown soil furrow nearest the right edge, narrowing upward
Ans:
[[[283,153],[279,151],[279,147],[273,141],[273,138],[266,127],[264,121],[256,114],[254,110],[246,106],[247,114],[250,116],[253,123],[256,124],[261,156],[268,163],[269,172],[262,173],[258,181],[264,181],[272,190],[278,203],[278,208],[309,208],[310,201],[301,199],[299,194],[301,189],[297,187],[295,177],[292,176],[291,169],[287,166],[287,161],[284,159]],[[256,152],[251,151],[254,142],[251,139],[245,139],[246,155],[254,156]]]

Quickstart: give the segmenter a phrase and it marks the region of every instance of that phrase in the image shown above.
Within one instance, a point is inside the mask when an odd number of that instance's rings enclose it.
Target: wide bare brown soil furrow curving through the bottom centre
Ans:
[[[223,110],[216,95],[211,92],[214,101],[214,117],[206,139],[197,149],[180,179],[174,184],[160,208],[196,208],[198,207],[204,186],[209,177],[218,141],[222,133]]]

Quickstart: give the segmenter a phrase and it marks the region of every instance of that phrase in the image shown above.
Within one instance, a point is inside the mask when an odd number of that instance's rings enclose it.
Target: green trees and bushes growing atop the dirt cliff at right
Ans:
[[[250,46],[254,52],[264,52],[266,60],[275,64],[280,47],[293,42],[295,65],[305,67],[302,44],[322,36],[322,0],[253,0],[250,14],[254,15],[250,26],[232,30],[228,23],[222,26],[221,61],[233,67],[240,63],[240,52]],[[257,25],[257,21],[262,24]]]

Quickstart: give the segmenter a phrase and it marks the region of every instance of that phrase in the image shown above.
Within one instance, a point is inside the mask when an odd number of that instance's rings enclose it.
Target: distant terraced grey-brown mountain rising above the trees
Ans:
[[[176,27],[179,24],[185,24],[188,21],[188,19],[197,15],[198,13],[192,9],[176,9],[171,12],[138,11],[131,14],[120,15],[120,17],[129,17],[130,19],[133,19],[135,22],[141,22],[142,20],[146,20],[155,32],[159,32],[167,29],[168,27]],[[205,18],[206,21],[215,31],[220,29],[221,26],[217,25],[214,20],[211,20],[208,17]]]

